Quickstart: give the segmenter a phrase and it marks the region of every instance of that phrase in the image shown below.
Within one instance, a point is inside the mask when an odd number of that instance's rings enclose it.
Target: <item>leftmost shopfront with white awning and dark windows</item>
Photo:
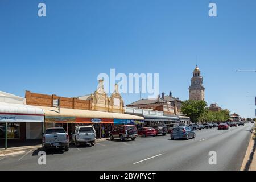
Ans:
[[[42,133],[44,111],[25,104],[0,102],[0,142],[7,148],[7,140],[24,142]],[[30,130],[27,130],[29,126]],[[38,133],[38,130],[39,133]]]

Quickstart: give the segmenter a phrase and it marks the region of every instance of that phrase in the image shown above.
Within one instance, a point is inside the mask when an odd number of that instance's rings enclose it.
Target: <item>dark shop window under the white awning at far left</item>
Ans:
[[[7,138],[20,138],[20,123],[7,124]],[[5,139],[5,123],[0,123],[0,139]]]

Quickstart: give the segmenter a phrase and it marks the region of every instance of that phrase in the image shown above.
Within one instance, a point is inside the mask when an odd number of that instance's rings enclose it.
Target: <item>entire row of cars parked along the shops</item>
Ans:
[[[152,127],[141,127],[137,129],[135,125],[120,125],[115,126],[112,131],[109,132],[110,140],[115,138],[124,141],[125,139],[135,140],[138,136],[142,137],[155,137],[156,135],[166,135],[170,133],[171,140],[174,139],[190,139],[196,138],[195,130],[209,129],[218,127],[218,130],[228,130],[230,127],[244,126],[245,123],[240,122],[224,122],[224,123],[204,123],[199,125],[191,123],[185,125],[185,123],[172,123],[154,125]],[[90,143],[94,146],[96,142],[96,131],[93,126],[77,126],[75,133],[72,134],[72,142],[75,146],[80,144]],[[43,150],[48,148],[63,148],[65,151],[69,150],[69,136],[65,132],[63,127],[52,127],[46,129],[42,134],[42,147]]]

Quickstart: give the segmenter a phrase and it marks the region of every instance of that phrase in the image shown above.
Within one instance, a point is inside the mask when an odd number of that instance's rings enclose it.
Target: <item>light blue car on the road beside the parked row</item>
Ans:
[[[190,127],[174,127],[171,130],[171,140],[183,138],[189,140],[190,138],[196,138],[195,131],[192,131]]]

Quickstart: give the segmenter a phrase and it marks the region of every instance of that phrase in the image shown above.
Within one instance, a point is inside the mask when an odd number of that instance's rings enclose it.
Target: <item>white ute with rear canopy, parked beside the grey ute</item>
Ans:
[[[72,134],[72,142],[76,146],[79,146],[80,143],[90,143],[91,146],[94,146],[96,141],[96,131],[93,126],[77,126],[75,133]]]

